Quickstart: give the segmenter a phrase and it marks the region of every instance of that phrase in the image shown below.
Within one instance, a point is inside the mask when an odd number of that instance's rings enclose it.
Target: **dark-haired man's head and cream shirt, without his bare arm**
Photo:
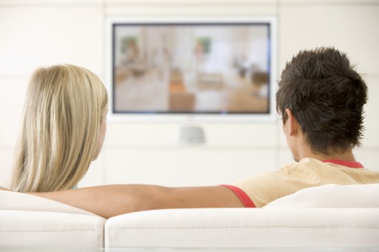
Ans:
[[[356,162],[367,85],[334,48],[299,52],[287,63],[276,109],[295,163],[229,186],[250,205],[265,204],[307,187],[379,182],[379,172]]]

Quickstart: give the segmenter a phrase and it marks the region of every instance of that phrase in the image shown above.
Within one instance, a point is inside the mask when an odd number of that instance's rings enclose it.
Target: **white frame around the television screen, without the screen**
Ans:
[[[154,24],[154,23],[172,23],[172,24],[225,24],[225,23],[268,23],[269,24],[269,112],[268,113],[114,113],[113,101],[113,46],[114,46],[114,24]],[[274,16],[254,16],[254,17],[110,17],[106,20],[106,87],[108,92],[108,116],[110,120],[128,121],[128,122],[261,122],[272,121],[277,118],[275,109],[275,93],[277,89],[277,70],[276,70],[276,17]]]

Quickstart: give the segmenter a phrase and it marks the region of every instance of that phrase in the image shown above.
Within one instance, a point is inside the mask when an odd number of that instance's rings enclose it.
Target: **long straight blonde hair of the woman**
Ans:
[[[10,189],[70,189],[83,178],[96,151],[107,91],[83,67],[36,70],[25,98],[23,125]]]

